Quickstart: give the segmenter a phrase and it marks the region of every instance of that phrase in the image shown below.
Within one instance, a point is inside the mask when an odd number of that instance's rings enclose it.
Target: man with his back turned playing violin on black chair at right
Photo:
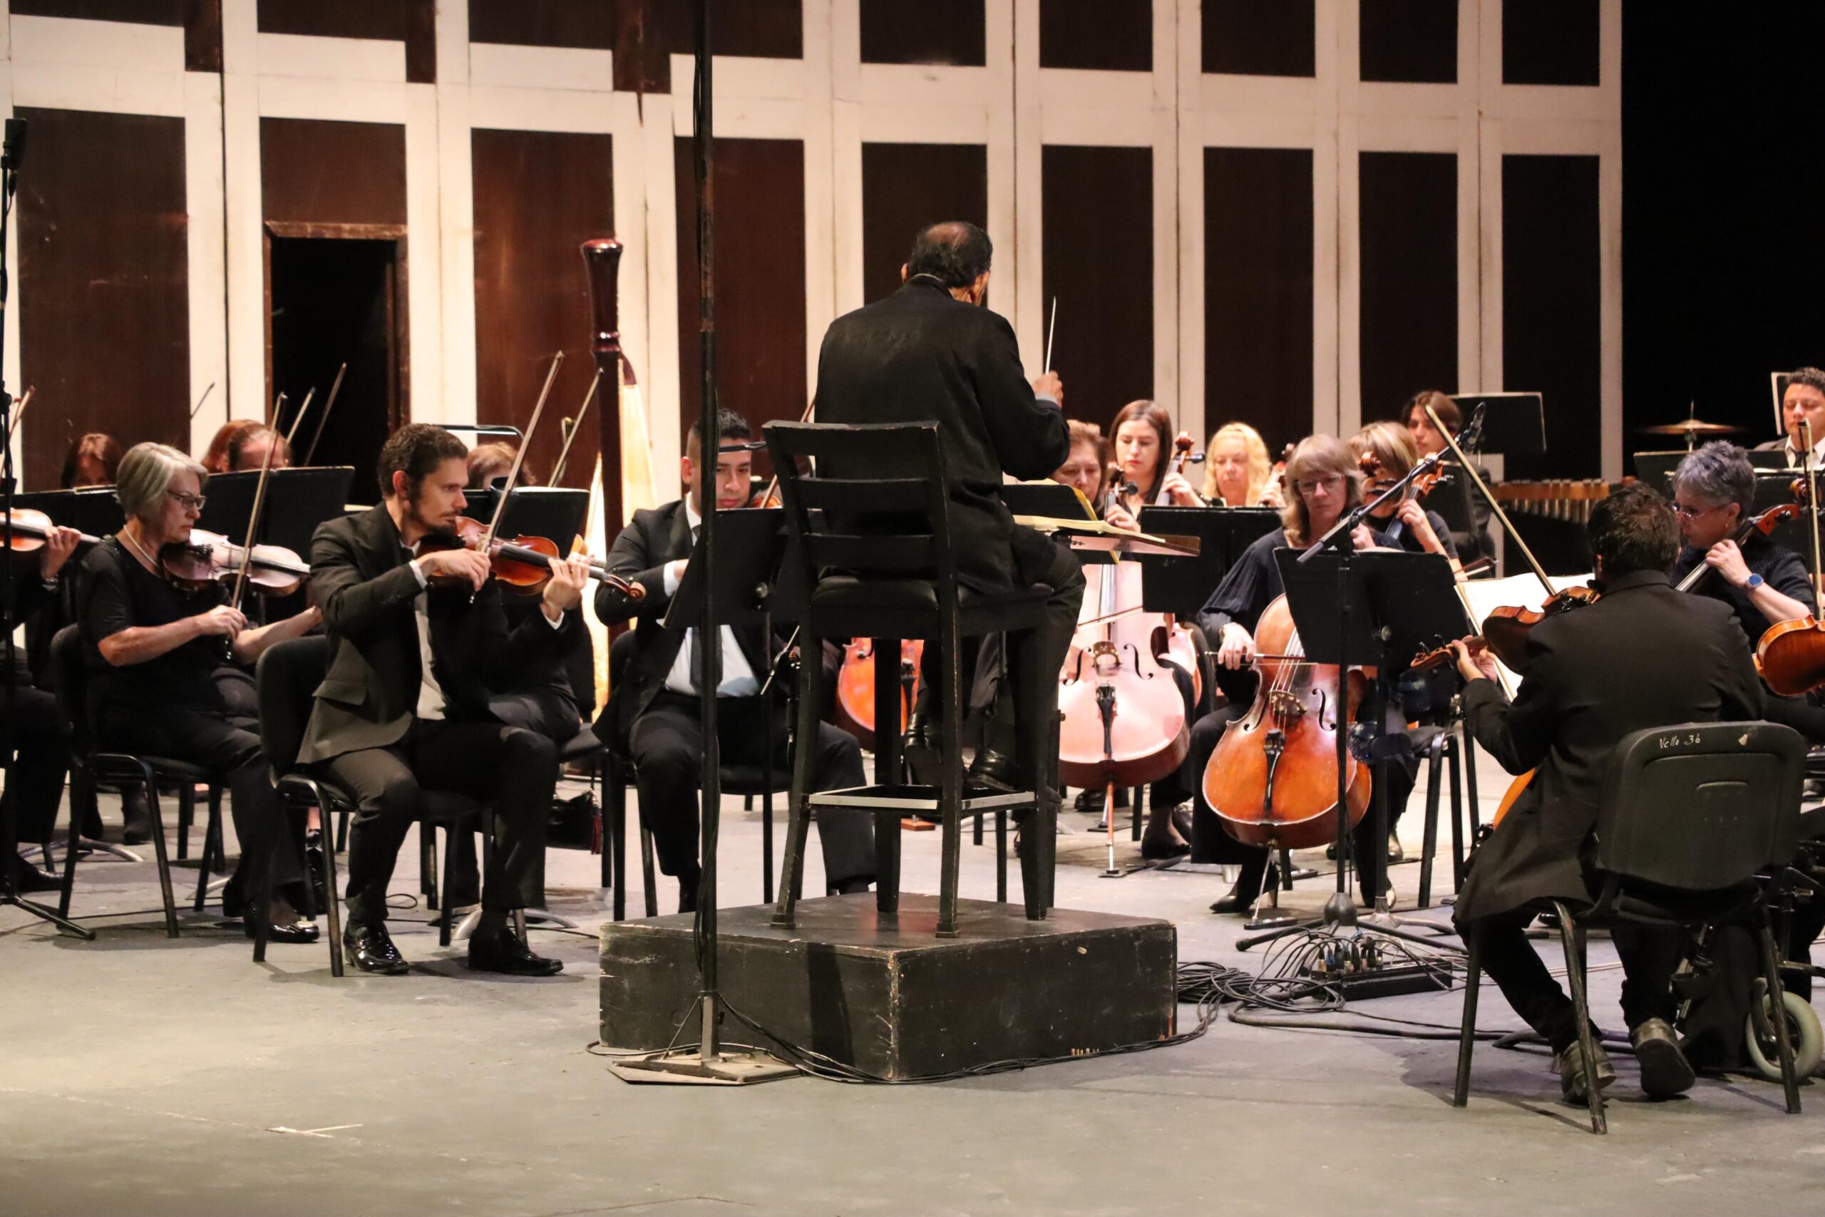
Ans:
[[[1495,661],[1455,642],[1464,717],[1511,774],[1537,770],[1476,850],[1455,918],[1482,934],[1484,969],[1515,1013],[1557,1053],[1560,1087],[1584,1102],[1584,1058],[1571,1000],[1528,945],[1535,900],[1588,903],[1591,834],[1610,754],[1630,732],[1674,723],[1761,717],[1761,690],[1741,629],[1719,600],[1675,591],[1666,567],[1679,529],[1666,502],[1630,485],[1597,504],[1590,547],[1602,598],[1549,617],[1528,639],[1528,675],[1509,702]],[[1668,657],[1677,657],[1670,661]],[[1650,1097],[1683,1093],[1692,1066],[1672,1029],[1679,934],[1617,925],[1622,1014]],[[1602,1084],[1615,1069],[1597,1049]]]

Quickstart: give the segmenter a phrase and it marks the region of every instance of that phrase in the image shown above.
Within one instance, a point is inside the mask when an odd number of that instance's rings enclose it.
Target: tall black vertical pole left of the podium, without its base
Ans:
[[[717,1044],[715,1000],[715,854],[723,812],[723,755],[715,737],[715,690],[723,682],[723,629],[715,624],[715,467],[723,451],[715,400],[715,126],[710,55],[710,0],[697,0],[697,77],[694,97],[694,146],[697,153],[697,341],[703,359],[703,445],[697,452],[697,485],[703,505],[703,531],[697,535],[694,562],[703,564],[703,606],[697,615],[697,646],[703,655],[703,686],[697,690],[703,723],[703,863],[697,879],[697,969],[703,1005],[699,1058],[714,1060]],[[772,761],[772,757],[768,757]]]

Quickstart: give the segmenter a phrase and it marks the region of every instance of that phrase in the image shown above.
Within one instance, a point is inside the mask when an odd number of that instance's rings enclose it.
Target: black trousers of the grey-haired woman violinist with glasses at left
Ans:
[[[272,788],[266,757],[259,750],[259,719],[252,710],[254,682],[239,670],[224,670],[217,673],[215,686],[224,695],[226,708],[102,706],[97,732],[100,750],[170,757],[206,768],[228,786],[228,812],[241,839],[235,885],[248,890],[254,878],[248,867],[268,850],[272,885],[296,883],[305,878],[305,869]]]

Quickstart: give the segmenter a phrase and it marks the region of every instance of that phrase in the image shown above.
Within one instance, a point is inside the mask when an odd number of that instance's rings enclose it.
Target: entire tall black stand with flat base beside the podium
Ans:
[[[710,53],[710,0],[695,0],[697,7],[697,73],[692,95],[694,109],[694,146],[697,153],[697,328],[699,358],[703,361],[703,405],[701,425],[703,443],[697,465],[697,485],[703,502],[703,527],[697,533],[697,551],[692,562],[704,564],[703,606],[699,608],[697,631],[703,659],[699,695],[699,719],[703,724],[703,770],[699,788],[703,792],[703,863],[697,879],[697,920],[694,938],[697,945],[697,1007],[703,1016],[701,1038],[695,1051],[650,1053],[644,1056],[624,1056],[610,1067],[628,1082],[683,1082],[683,1084],[721,1084],[743,1086],[746,1082],[770,1082],[774,1078],[796,1077],[798,1069],[757,1049],[730,1051],[721,1044],[721,1007],[715,978],[715,847],[723,814],[721,748],[715,735],[715,692],[723,684],[723,628],[715,617],[715,465],[723,451],[723,429],[717,425],[715,398],[715,190],[712,175],[715,172],[715,126],[714,126],[714,66]],[[704,646],[704,642],[710,642]],[[772,765],[772,757],[766,757]]]

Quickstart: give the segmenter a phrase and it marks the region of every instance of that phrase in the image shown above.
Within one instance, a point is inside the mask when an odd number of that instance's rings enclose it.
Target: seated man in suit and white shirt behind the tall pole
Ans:
[[[748,420],[721,411],[717,429],[725,442],[748,440]],[[692,423],[684,443],[681,474],[686,498],[652,511],[635,511],[608,551],[608,569],[641,584],[646,597],[635,600],[608,584],[595,593],[595,615],[604,624],[633,620],[633,655],[613,682],[597,733],[626,741],[633,759],[641,816],[653,832],[659,869],[679,881],[679,912],[697,907],[697,808],[703,765],[703,724],[699,721],[697,662],[699,633],[668,629],[664,624],[672,597],[690,564],[697,527],[703,522],[703,420]],[[721,511],[748,505],[754,456],[746,451],[719,452],[715,458],[715,505]],[[768,640],[756,626],[723,626],[719,631],[723,677],[717,686],[717,744],[726,765],[765,765],[766,719],[776,713],[776,765],[785,765],[787,724],[783,712],[761,695],[768,670]],[[602,732],[608,732],[606,735]],[[818,726],[816,741],[799,746],[818,750],[812,766],[816,790],[865,785],[861,746],[847,732],[829,723]],[[830,892],[861,892],[874,881],[874,821],[869,816],[830,816],[818,821],[823,843],[823,874]]]

